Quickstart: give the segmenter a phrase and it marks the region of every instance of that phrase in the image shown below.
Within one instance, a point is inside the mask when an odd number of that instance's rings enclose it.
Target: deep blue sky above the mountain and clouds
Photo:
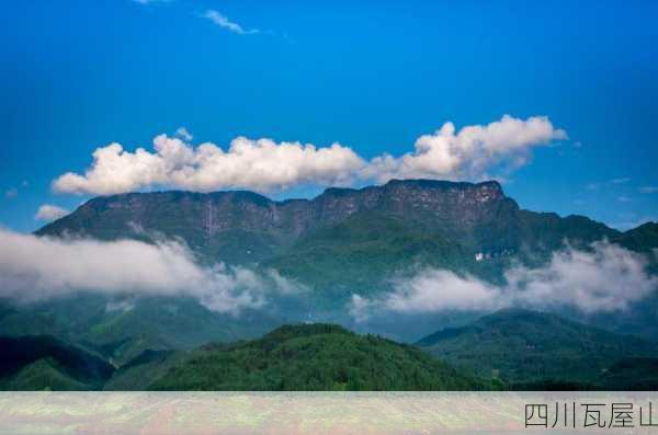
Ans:
[[[504,114],[547,116],[568,135],[506,173],[522,207],[657,220],[658,3],[535,3],[7,2],[0,225],[38,228],[41,205],[92,196],[52,182],[83,174],[94,149],[152,151],[181,126],[194,145],[340,142],[367,160],[410,152],[445,122]]]

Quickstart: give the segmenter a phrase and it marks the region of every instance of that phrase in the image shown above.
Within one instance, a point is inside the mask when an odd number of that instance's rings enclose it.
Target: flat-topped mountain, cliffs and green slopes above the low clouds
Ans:
[[[259,264],[327,300],[382,288],[385,275],[426,264],[501,279],[512,260],[545,261],[569,240],[621,232],[582,216],[521,209],[497,182],[393,180],[326,190],[313,199],[252,192],[154,192],[93,198],[36,231],[102,240],[180,238],[204,261]],[[481,254],[485,261],[476,261]]]

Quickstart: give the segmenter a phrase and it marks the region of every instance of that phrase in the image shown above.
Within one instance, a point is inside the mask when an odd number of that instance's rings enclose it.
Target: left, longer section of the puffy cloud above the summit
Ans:
[[[234,139],[227,151],[214,144],[193,148],[179,138],[161,135],[156,152],[124,151],[118,144],[99,148],[84,175],[67,173],[54,181],[63,193],[113,194],[154,185],[190,191],[248,187],[260,192],[302,183],[345,184],[364,164],[351,149],[326,148],[271,139]]]

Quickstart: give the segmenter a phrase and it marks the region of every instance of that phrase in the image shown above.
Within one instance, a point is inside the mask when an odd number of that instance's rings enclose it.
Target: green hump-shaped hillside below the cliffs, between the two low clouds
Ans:
[[[345,288],[379,291],[382,277],[416,264],[464,270],[474,263],[470,250],[423,222],[362,211],[310,231],[263,266],[344,297]]]

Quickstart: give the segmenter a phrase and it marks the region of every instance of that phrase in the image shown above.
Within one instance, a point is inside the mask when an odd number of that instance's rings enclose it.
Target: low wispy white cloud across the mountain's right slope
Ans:
[[[646,272],[647,260],[606,241],[590,251],[566,248],[540,268],[517,265],[506,273],[507,285],[495,286],[473,276],[427,270],[399,279],[395,290],[375,299],[352,298],[358,321],[377,311],[402,313],[447,310],[496,310],[503,307],[575,307],[582,312],[625,310],[649,295],[658,278]]]

